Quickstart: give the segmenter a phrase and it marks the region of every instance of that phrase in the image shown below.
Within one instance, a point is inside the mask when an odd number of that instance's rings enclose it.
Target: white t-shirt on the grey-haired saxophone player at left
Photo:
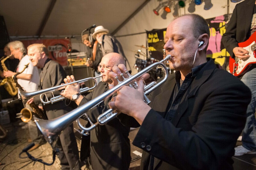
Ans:
[[[17,82],[23,89],[27,92],[36,91],[39,84],[39,72],[38,68],[32,65],[32,62],[29,60],[29,56],[25,55],[20,61],[17,67],[16,72],[21,72],[25,65],[28,64],[28,68],[26,68],[22,74],[31,74],[32,77],[30,80],[17,79]]]

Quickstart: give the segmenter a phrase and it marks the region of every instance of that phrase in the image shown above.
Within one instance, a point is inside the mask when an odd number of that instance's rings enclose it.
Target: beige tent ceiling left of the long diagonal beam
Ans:
[[[148,1],[1,0],[0,15],[12,39],[80,35],[93,24],[113,33]]]

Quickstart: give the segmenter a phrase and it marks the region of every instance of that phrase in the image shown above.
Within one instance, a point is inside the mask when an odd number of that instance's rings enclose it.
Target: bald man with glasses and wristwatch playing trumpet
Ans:
[[[60,93],[68,99],[76,102],[79,106],[87,103],[88,101],[96,98],[100,94],[109,89],[112,80],[108,73],[112,71],[113,66],[125,64],[122,55],[118,53],[109,53],[102,57],[98,66],[98,70],[102,75],[102,82],[98,83],[93,92],[86,96],[79,93],[79,85],[67,86],[66,89]],[[70,82],[73,76],[67,76],[65,82]],[[108,103],[112,96],[104,102],[98,104],[86,114],[93,123],[97,122],[97,117],[109,109]],[[98,126],[91,133],[91,151],[90,158],[93,169],[128,169],[131,161],[130,140],[128,138],[130,128],[123,126],[119,119],[115,118],[109,123]],[[83,146],[83,136],[81,147]],[[82,153],[82,148],[81,148]],[[80,156],[81,159],[81,156]]]

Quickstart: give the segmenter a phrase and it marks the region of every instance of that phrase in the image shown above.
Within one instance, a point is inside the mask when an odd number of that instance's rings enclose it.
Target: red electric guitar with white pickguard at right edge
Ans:
[[[238,43],[239,47],[243,47],[245,50],[249,51],[249,56],[246,59],[239,59],[235,57],[233,59],[229,57],[229,70],[234,76],[241,76],[250,68],[250,64],[256,63],[256,31],[251,35],[251,37],[241,43]]]

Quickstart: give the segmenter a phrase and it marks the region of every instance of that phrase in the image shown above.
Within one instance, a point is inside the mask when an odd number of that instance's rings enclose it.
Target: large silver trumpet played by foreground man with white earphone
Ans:
[[[60,133],[66,127],[68,127],[70,124],[72,124],[76,119],[78,119],[84,113],[89,111],[91,108],[97,106],[99,103],[103,102],[106,98],[110,97],[115,92],[120,90],[123,86],[127,86],[127,85],[131,84],[137,78],[141,77],[143,74],[145,74],[146,72],[152,70],[156,66],[162,66],[163,67],[163,69],[165,71],[165,76],[164,76],[164,78],[159,83],[157,83],[153,87],[147,89],[145,91],[145,95],[151,93],[154,89],[159,87],[163,82],[165,82],[167,80],[167,77],[168,77],[168,74],[167,74],[168,70],[167,70],[166,66],[163,64],[163,62],[169,60],[170,58],[171,58],[171,56],[167,55],[165,57],[165,59],[161,60],[161,62],[157,62],[157,63],[151,64],[150,66],[144,68],[143,70],[141,70],[137,74],[135,74],[133,76],[130,76],[129,78],[127,78],[124,81],[120,82],[118,85],[116,85],[112,89],[104,92],[103,94],[97,96],[96,98],[94,98],[91,101],[83,104],[82,106],[80,106],[80,107],[78,107],[78,108],[76,108],[76,109],[66,113],[65,115],[62,115],[62,116],[60,116],[58,118],[51,119],[51,120],[43,120],[43,119],[38,119],[38,118],[34,117],[36,125],[38,126],[38,128],[42,132],[42,134],[43,134],[44,138],[46,139],[46,141],[50,143],[50,145],[51,145],[51,147],[53,149],[53,152],[54,153],[57,152],[57,149],[56,149],[57,139],[58,139]],[[131,85],[131,86],[133,86],[133,85]],[[117,114],[112,116],[112,118],[116,117],[116,116],[117,116]],[[108,119],[108,121],[110,120],[109,118],[106,118],[106,119]],[[92,124],[92,122],[90,120],[89,120],[89,122]],[[89,127],[89,128],[84,128],[84,131],[87,131],[87,132],[91,131],[97,125],[98,125],[98,122],[96,124],[92,124],[92,126]]]

